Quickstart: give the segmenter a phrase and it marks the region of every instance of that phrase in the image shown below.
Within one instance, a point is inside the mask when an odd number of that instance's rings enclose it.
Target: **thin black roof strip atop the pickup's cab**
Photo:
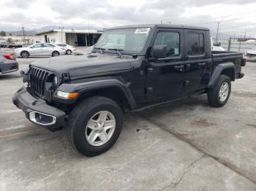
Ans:
[[[196,30],[205,30],[209,31],[209,28],[200,27],[200,26],[187,26],[187,25],[170,25],[170,24],[146,24],[146,25],[133,25],[133,26],[117,26],[106,29],[121,29],[121,28],[184,28],[184,29],[196,29]]]

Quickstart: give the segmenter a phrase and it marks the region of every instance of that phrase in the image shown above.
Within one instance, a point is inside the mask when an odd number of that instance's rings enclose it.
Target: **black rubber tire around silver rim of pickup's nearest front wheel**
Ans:
[[[116,128],[110,139],[101,146],[93,146],[86,140],[86,125],[97,112],[108,111],[116,120]],[[108,151],[116,143],[123,125],[123,113],[115,101],[110,98],[95,96],[81,102],[69,115],[68,137],[72,146],[82,155],[93,157]]]

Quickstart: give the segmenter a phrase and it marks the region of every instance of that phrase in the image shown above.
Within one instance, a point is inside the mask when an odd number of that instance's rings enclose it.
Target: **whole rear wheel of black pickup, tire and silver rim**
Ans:
[[[208,90],[208,102],[211,106],[221,107],[227,103],[231,92],[230,78],[220,75],[219,80],[214,87]]]

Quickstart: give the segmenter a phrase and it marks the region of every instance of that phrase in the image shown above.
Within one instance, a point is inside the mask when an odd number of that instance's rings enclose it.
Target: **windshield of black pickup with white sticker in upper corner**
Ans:
[[[124,28],[105,31],[94,49],[140,53],[146,44],[150,28]]]

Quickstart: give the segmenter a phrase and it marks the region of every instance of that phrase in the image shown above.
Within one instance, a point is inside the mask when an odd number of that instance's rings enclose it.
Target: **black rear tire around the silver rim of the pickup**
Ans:
[[[221,100],[221,98],[219,97],[219,90],[224,83],[227,83],[228,85],[228,93],[227,93],[227,96],[225,96],[225,99]],[[208,93],[207,93],[208,103],[214,107],[224,106],[227,103],[228,98],[230,97],[230,92],[231,92],[230,78],[227,77],[226,75],[220,75],[216,85],[208,89]]]

